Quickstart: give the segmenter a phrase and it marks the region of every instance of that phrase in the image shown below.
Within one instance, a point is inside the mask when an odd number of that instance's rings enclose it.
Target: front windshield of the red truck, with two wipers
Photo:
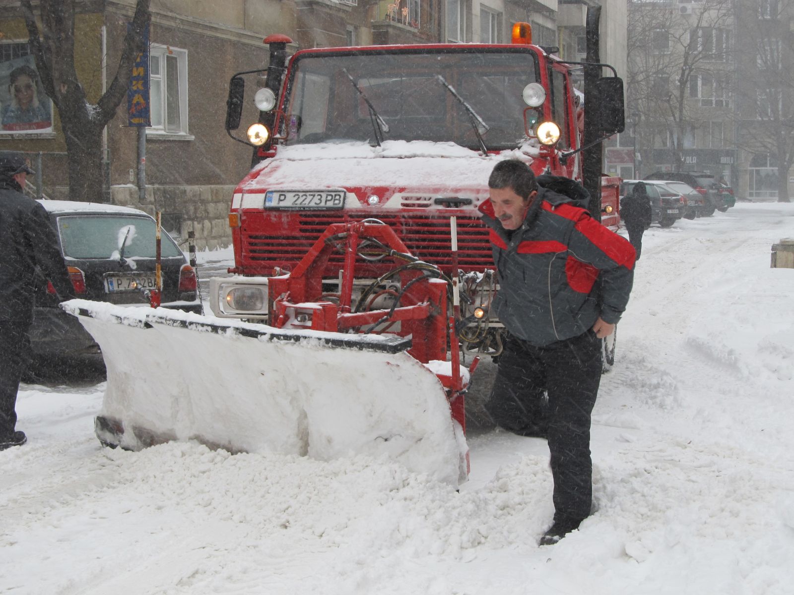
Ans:
[[[438,82],[441,75],[488,125],[488,149],[514,148],[524,138],[522,90],[538,82],[536,62],[529,48],[306,54],[293,63],[282,132],[288,145],[374,142],[376,127],[358,87],[387,125],[384,140],[479,148],[466,109]]]

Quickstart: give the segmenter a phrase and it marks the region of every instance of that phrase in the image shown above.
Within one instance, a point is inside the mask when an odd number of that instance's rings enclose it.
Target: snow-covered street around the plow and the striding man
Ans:
[[[365,457],[111,450],[93,427],[104,383],[23,385],[0,593],[792,593],[794,270],[769,268],[784,237],[794,204],[646,232],[593,413],[595,510],[555,546],[537,546],[543,440],[472,430],[458,493]]]

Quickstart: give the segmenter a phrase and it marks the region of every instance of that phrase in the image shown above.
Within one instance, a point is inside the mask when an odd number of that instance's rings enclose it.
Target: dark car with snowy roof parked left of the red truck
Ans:
[[[56,228],[77,298],[148,307],[155,286],[156,222],[147,213],[115,205],[41,201]],[[162,306],[201,313],[193,267],[168,233],[160,234]],[[30,329],[34,368],[57,359],[102,363],[94,339],[58,307],[42,278]]]

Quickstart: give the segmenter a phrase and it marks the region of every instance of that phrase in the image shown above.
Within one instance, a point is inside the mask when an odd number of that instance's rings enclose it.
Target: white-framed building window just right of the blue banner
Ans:
[[[149,56],[149,131],[187,134],[187,50],[152,44]]]

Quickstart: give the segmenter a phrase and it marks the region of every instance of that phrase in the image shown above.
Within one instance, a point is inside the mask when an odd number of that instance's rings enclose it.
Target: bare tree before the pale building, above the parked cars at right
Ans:
[[[673,166],[683,166],[684,137],[702,121],[690,98],[696,77],[722,79],[717,53],[723,63],[729,52],[727,33],[732,19],[730,0],[705,0],[694,13],[681,13],[657,2],[629,1],[628,98],[630,109],[642,113],[638,144],[643,160],[657,136],[673,139]],[[716,37],[720,36],[719,39]]]

